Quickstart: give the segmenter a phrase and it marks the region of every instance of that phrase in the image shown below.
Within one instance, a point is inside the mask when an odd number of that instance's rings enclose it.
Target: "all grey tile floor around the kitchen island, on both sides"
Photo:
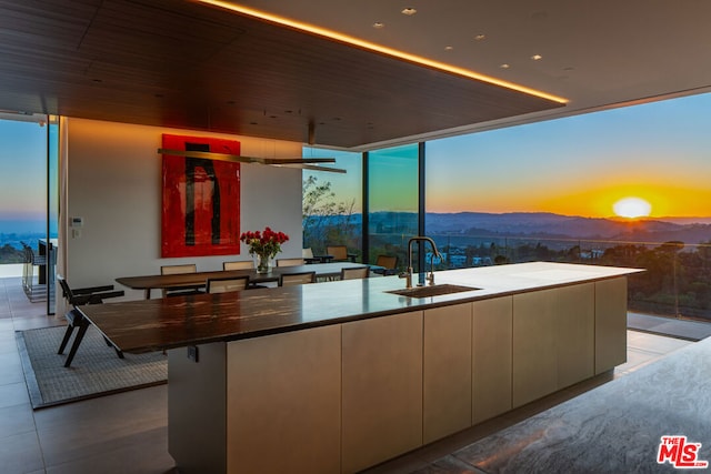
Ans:
[[[0,473],[178,473],[168,454],[166,385],[32,411],[14,331],[63,324],[44,315],[44,307],[29,303],[20,278],[0,278]],[[690,342],[630,331],[628,363],[613,376],[685,344]],[[411,473],[608,380],[587,381],[369,472]]]

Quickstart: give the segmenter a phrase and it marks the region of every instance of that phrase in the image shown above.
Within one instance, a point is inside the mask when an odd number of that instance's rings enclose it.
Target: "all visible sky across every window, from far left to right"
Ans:
[[[44,215],[46,133],[0,120],[0,220]],[[316,175],[360,212],[360,153],[304,149],[324,155],[348,173]],[[417,144],[373,155],[371,210],[415,211]],[[630,196],[652,218],[711,216],[711,93],[427,143],[428,212],[607,218]]]

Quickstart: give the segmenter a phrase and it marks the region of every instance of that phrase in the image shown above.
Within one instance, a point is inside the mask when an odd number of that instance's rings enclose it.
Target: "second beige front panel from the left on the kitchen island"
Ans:
[[[422,312],[346,323],[342,472],[422,445]]]

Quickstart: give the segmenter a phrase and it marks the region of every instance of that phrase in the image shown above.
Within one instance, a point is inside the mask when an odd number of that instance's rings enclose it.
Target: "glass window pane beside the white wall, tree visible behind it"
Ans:
[[[334,158],[336,163],[322,167],[344,171],[303,171],[304,249],[311,249],[314,255],[324,255],[327,245],[346,245],[349,253],[360,256],[363,182],[361,153],[304,148],[303,157]]]

